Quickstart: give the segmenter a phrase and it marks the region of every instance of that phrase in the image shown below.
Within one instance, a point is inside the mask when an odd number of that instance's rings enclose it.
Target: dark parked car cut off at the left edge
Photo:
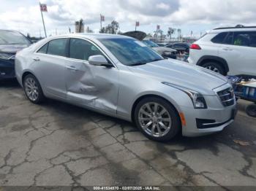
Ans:
[[[15,53],[30,44],[20,32],[0,29],[0,80],[15,78]]]

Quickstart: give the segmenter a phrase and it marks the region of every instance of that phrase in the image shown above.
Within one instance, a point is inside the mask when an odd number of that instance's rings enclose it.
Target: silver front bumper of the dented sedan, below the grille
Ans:
[[[186,119],[186,125],[182,127],[184,136],[204,136],[221,131],[236,117],[236,104],[222,109],[183,107],[181,110]]]

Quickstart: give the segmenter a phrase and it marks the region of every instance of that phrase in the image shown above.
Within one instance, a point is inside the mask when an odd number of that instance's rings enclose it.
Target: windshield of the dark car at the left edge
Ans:
[[[31,44],[31,42],[19,32],[0,31],[0,44]]]

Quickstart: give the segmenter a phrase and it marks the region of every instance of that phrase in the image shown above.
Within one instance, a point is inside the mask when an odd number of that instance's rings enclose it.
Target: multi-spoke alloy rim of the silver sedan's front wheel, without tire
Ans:
[[[161,104],[149,102],[140,107],[138,112],[140,127],[154,137],[165,136],[171,128],[170,113]]]

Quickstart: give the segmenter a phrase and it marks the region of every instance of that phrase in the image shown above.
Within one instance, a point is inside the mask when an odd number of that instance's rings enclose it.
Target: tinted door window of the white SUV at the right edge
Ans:
[[[256,47],[256,32],[234,32],[233,44],[236,46]]]

